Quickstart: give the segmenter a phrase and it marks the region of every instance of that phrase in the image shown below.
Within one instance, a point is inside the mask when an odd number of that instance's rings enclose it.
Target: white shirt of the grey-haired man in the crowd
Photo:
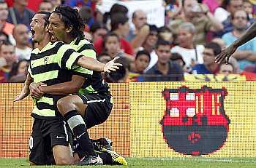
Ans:
[[[195,55],[195,49],[185,49],[183,47],[173,47],[172,49],[170,49],[170,52],[174,53],[178,53],[182,56],[184,62],[186,63],[187,67],[190,67],[190,64],[192,62],[192,60],[196,61],[197,63],[203,63],[203,45],[197,45],[196,46],[196,52],[197,52],[197,58]]]

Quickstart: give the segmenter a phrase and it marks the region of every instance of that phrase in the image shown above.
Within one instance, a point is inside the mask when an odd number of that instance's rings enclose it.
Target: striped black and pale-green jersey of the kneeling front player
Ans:
[[[48,43],[43,49],[34,49],[31,52],[29,73],[34,82],[43,82],[47,85],[59,84],[70,81],[71,71],[78,68],[78,59],[82,57],[75,52],[69,44],[63,42]],[[83,76],[91,76],[92,71],[83,68]],[[56,108],[59,98],[64,95],[44,94],[39,100],[34,100],[36,105],[31,116],[41,119],[53,119],[61,116]]]

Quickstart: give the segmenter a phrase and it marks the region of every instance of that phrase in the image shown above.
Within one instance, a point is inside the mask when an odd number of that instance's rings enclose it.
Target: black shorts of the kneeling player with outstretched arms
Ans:
[[[55,164],[53,146],[68,146],[71,134],[66,123],[59,119],[34,119],[31,137],[29,138],[29,161],[37,165]]]

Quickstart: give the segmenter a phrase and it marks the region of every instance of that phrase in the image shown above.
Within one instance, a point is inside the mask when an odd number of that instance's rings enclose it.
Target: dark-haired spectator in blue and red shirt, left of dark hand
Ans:
[[[219,44],[210,42],[206,44],[203,50],[203,63],[195,65],[192,68],[193,73],[197,74],[215,74],[219,71],[219,66],[214,62],[215,57],[222,52]]]

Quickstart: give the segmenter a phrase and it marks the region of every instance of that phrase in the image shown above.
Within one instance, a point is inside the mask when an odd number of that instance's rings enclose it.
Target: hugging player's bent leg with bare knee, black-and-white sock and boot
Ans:
[[[84,161],[80,161],[80,164],[102,164],[101,159],[94,152],[94,146],[89,139],[86,124],[80,115],[80,113],[84,115],[83,112],[87,105],[83,103],[83,100],[78,95],[72,95],[61,98],[57,103],[57,107],[61,115],[64,116],[64,120],[69,124],[70,129],[72,129],[80,148],[83,148],[83,151],[79,153],[80,158],[83,158],[83,156],[86,156],[86,158],[84,158]]]

